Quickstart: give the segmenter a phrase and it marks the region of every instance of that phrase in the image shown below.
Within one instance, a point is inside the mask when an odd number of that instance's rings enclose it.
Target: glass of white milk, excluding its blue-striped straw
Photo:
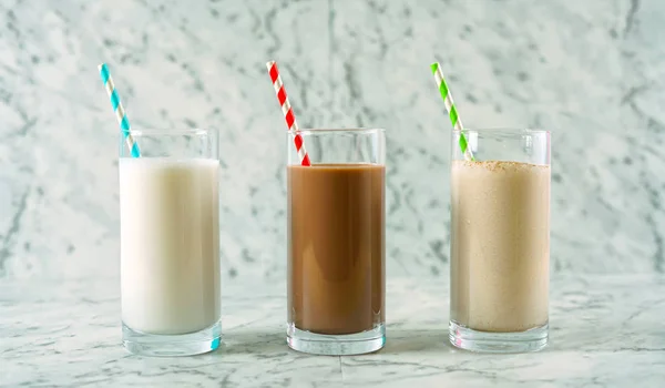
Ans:
[[[214,130],[131,131],[120,139],[122,334],[147,356],[219,346],[218,136]]]

